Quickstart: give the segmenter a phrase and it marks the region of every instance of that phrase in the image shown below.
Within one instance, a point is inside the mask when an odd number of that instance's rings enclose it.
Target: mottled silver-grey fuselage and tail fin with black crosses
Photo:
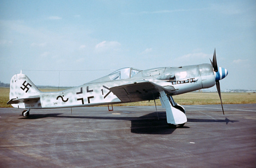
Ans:
[[[12,104],[17,108],[40,109],[60,107],[80,107],[104,104],[118,104],[130,101],[121,101],[109,89],[148,81],[165,88],[166,94],[173,96],[210,88],[215,85],[215,76],[210,64],[191,65],[183,67],[162,67],[142,70],[132,78],[111,80],[104,76],[81,86],[59,92],[40,92],[25,74],[15,74],[10,81],[10,100],[35,98],[25,103]],[[131,85],[132,86],[132,85]],[[82,88],[82,89],[81,89]],[[155,99],[159,98],[155,97]],[[142,101],[136,99],[136,101]]]

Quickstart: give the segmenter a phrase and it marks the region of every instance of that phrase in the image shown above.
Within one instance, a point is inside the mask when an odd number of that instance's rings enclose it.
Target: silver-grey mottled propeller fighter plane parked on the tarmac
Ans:
[[[112,105],[128,102],[160,99],[166,108],[166,119],[170,126],[182,127],[187,118],[185,109],[174,102],[172,96],[215,85],[220,96],[219,80],[228,71],[217,66],[214,50],[212,64],[180,67],[160,67],[148,70],[122,68],[102,78],[81,86],[58,92],[41,92],[25,74],[15,74],[10,81],[10,100],[7,104],[25,109],[50,109]],[[222,105],[222,100],[220,96]],[[222,111],[224,114],[223,106]]]

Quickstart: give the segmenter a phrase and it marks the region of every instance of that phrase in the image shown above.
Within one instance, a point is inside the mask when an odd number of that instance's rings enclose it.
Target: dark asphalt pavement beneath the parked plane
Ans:
[[[0,167],[256,167],[256,104],[183,107],[177,129],[161,106],[0,108]]]

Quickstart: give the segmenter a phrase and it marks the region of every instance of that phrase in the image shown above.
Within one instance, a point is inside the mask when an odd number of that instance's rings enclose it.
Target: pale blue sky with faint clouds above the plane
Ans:
[[[78,86],[122,67],[210,63],[214,48],[229,72],[221,89],[255,90],[254,0],[0,1],[4,83],[23,70],[36,85],[58,86],[60,73]]]

